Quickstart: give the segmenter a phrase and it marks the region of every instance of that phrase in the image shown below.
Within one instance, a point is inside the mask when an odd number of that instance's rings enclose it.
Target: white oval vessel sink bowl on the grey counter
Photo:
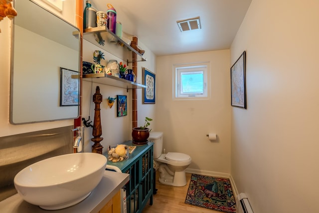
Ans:
[[[36,162],[14,177],[14,186],[26,202],[45,210],[73,206],[100,183],[107,158],[96,153],[60,155]]]

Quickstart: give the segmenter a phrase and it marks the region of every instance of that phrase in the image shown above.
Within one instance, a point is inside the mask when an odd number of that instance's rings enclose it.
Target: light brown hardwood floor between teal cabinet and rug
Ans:
[[[153,196],[153,206],[148,203],[143,213],[220,213],[185,204],[190,177],[191,174],[186,173],[186,186],[172,187],[161,184],[159,182],[159,172],[156,172],[156,188],[158,192]]]

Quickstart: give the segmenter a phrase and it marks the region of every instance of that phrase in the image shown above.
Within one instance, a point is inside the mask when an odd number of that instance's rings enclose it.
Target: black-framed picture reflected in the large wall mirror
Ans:
[[[60,67],[60,73],[60,106],[79,105],[79,72]]]

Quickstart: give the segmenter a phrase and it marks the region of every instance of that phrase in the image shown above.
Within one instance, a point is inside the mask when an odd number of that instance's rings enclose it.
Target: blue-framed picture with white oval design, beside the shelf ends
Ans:
[[[155,74],[143,67],[143,103],[155,104]]]

